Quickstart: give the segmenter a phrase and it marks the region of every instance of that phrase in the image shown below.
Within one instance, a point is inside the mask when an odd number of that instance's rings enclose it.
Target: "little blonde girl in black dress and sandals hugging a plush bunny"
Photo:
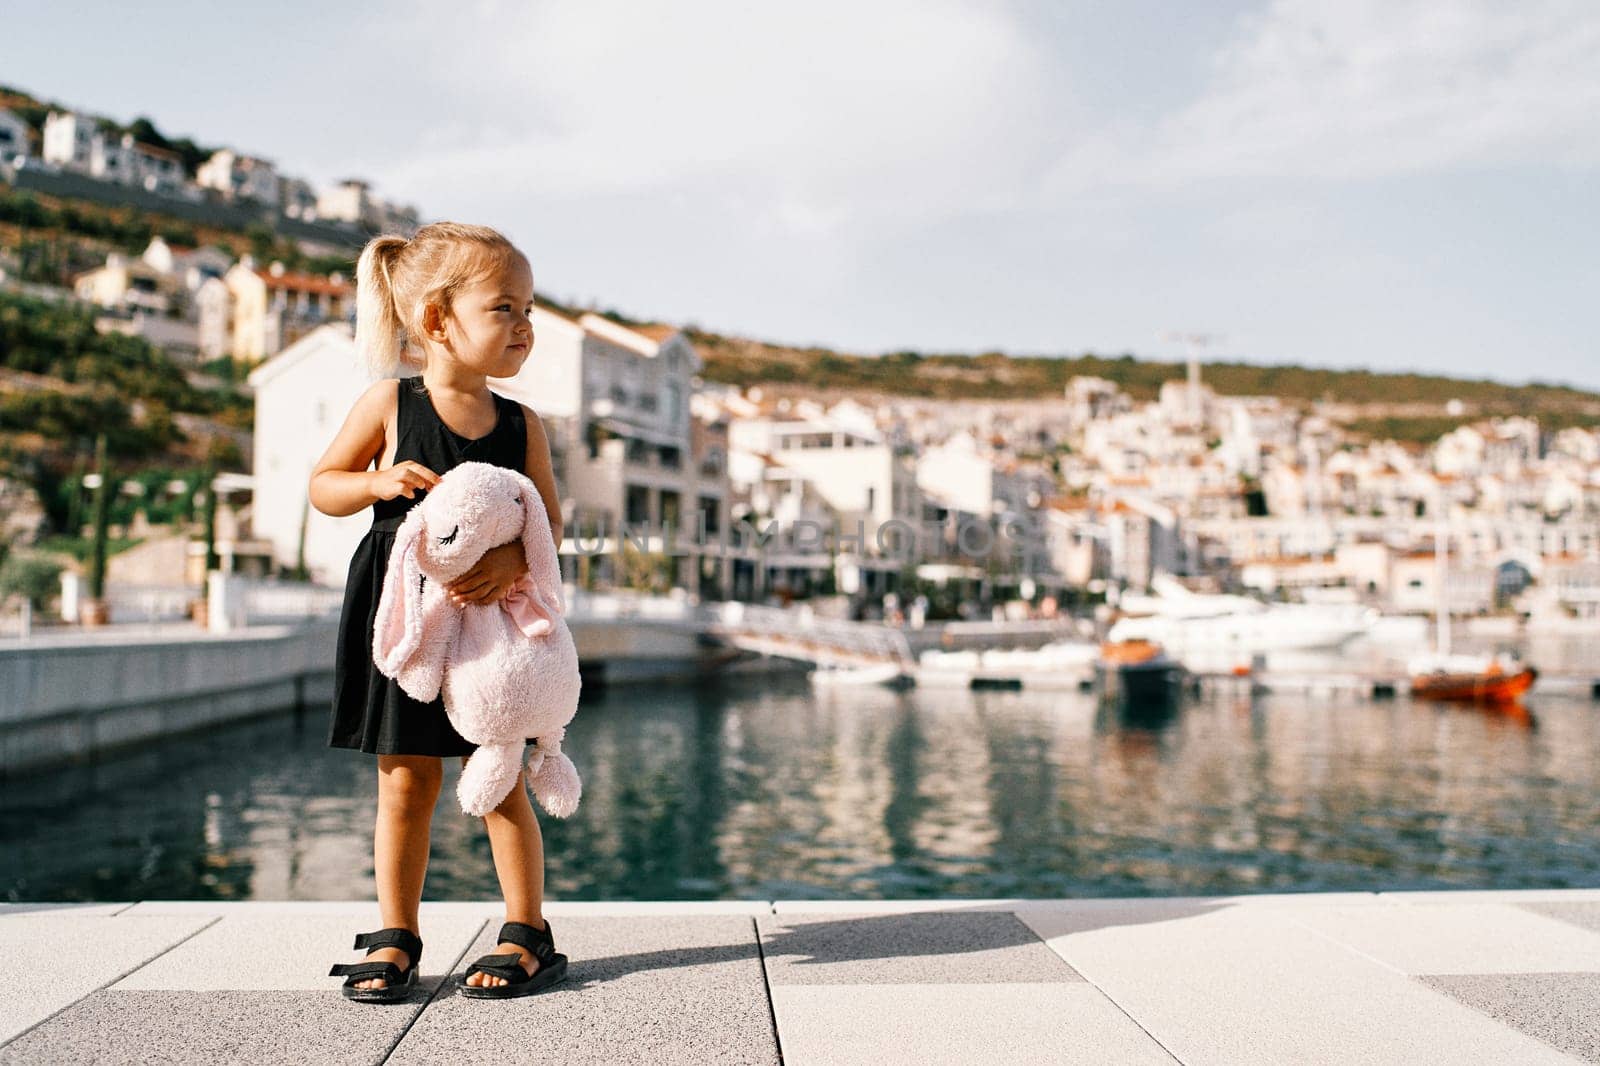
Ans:
[[[344,586],[328,744],[378,755],[373,866],[384,928],[362,933],[366,962],[336,965],[344,994],[398,1002],[418,981],[422,941],[418,906],[427,872],[429,826],[445,755],[474,744],[450,725],[440,698],[418,703],[373,666],[373,619],[405,512],[458,463],[494,463],[525,472],[539,490],[555,543],[562,511],[550,448],[539,418],[490,392],[533,347],[533,272],[501,234],[435,222],[410,240],[378,237],[355,267],[355,347],[376,378],[350,408],[310,475],[310,503],[330,515],[373,509]],[[421,370],[419,376],[394,375]],[[458,603],[494,603],[526,571],[520,543],[502,544],[450,586]],[[506,896],[499,954],[461,980],[474,997],[526,996],[560,981],[544,906],[544,845],[522,776],[490,815],[494,869]]]

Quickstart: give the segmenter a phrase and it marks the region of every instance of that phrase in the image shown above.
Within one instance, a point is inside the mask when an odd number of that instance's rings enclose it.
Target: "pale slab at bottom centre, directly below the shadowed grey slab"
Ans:
[[[1109,999],[1061,984],[773,988],[784,1066],[1173,1066]]]

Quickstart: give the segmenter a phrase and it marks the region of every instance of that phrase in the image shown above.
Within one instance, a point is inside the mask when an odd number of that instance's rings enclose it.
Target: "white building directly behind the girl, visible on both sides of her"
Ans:
[[[202,290],[202,299],[214,285]],[[650,549],[662,554],[669,549],[661,533],[666,523],[682,533],[701,514],[712,536],[725,528],[726,443],[715,431],[691,432],[686,395],[699,357],[682,331],[629,330],[597,315],[573,320],[541,307],[534,336],[522,373],[491,379],[490,387],[544,419],[563,495],[563,573],[579,576],[582,552],[592,559],[597,584],[614,583],[624,520],[640,525],[640,538],[648,536]],[[616,402],[613,379],[632,383],[626,405]],[[370,384],[350,328],[338,323],[310,331],[256,368],[250,384],[256,389],[256,535],[270,539],[277,562],[288,567],[304,522],[314,578],[341,584],[370,515],[330,519],[315,509],[306,512],[302,504],[312,466]],[[698,437],[701,455],[691,451]],[[606,522],[603,544],[594,538],[597,517]],[[584,544],[578,538],[586,538]],[[707,594],[736,587],[736,554],[725,557],[715,544],[675,539],[675,584]]]

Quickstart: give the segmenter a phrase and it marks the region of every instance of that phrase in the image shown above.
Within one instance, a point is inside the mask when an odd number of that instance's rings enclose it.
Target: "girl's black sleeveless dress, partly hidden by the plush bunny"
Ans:
[[[438,418],[421,378],[402,378],[395,392],[395,463],[411,459],[435,474],[469,461],[526,472],[528,426],[522,405],[515,400],[491,394],[494,429],[485,437],[467,440]],[[440,696],[419,703],[373,666],[373,623],[378,616],[378,597],[384,591],[384,573],[389,570],[389,551],[405,514],[422,496],[424,493],[418,493],[411,499],[395,496],[374,503],[373,528],[350,559],[339,615],[330,747],[355,747],[378,755],[466,755],[477,747],[450,725]]]

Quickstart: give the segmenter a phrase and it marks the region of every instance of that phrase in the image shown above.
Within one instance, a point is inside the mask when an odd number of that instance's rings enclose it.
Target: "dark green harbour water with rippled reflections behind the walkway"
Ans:
[[[616,690],[566,749],[552,898],[1082,896],[1600,884],[1587,701]],[[370,757],[320,714],[0,786],[10,900],[370,898]],[[426,896],[498,895],[446,763]]]

